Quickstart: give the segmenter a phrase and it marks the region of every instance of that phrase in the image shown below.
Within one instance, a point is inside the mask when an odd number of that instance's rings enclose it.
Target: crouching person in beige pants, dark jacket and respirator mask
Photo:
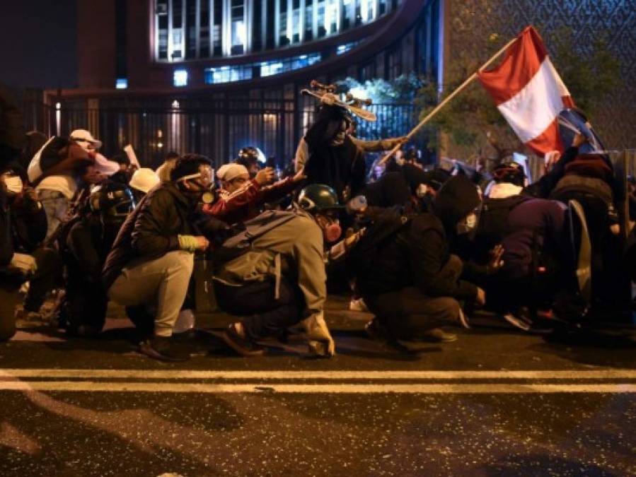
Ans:
[[[212,186],[212,167],[202,155],[177,160],[171,181],[144,196],[129,215],[106,259],[102,279],[110,300],[125,305],[142,334],[139,350],[158,360],[186,360],[171,336],[192,276],[195,252],[225,228],[200,213]],[[149,317],[153,317],[154,319]]]

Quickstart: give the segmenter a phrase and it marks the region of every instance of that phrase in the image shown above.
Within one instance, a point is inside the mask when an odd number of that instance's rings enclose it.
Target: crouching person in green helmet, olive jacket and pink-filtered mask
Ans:
[[[259,340],[302,322],[311,354],[335,354],[323,316],[324,249],[340,237],[340,208],[333,189],[312,184],[291,211],[266,211],[215,249],[217,302],[225,312],[244,316],[224,332],[234,351],[262,355]]]

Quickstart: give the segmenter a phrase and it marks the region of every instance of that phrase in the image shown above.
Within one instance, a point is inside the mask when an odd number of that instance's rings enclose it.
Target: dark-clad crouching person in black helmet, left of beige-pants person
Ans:
[[[87,207],[62,225],[58,237],[67,269],[60,324],[77,336],[96,336],[104,326],[108,298],[101,272],[117,232],[134,208],[134,199],[125,184],[109,181],[91,194]]]

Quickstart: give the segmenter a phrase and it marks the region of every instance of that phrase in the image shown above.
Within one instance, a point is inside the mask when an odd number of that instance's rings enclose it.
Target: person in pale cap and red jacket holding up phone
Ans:
[[[236,163],[219,167],[216,177],[221,181],[221,189],[216,192],[216,201],[205,204],[202,211],[229,224],[258,216],[260,206],[282,199],[305,179],[300,170],[294,177],[267,186],[274,179],[272,167],[261,169],[250,179],[247,167]]]

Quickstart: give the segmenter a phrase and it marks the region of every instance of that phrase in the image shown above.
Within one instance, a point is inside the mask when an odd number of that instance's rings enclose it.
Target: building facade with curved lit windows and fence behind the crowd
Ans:
[[[91,129],[108,154],[132,143],[149,165],[168,151],[224,163],[248,145],[284,163],[313,119],[316,100],[301,94],[312,79],[436,76],[439,8],[439,0],[79,2],[79,88],[47,92],[42,127]],[[373,108],[383,121],[359,124],[361,136],[405,133],[417,120],[412,105]]]

